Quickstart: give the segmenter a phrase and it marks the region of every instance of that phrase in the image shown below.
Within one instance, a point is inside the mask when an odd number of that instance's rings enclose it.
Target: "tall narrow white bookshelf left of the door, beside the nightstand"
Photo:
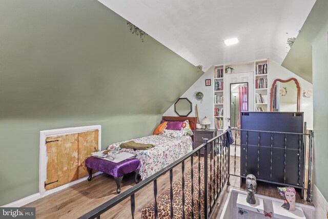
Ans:
[[[224,107],[224,87],[223,87],[223,77],[224,77],[224,67],[215,66],[214,67],[214,128],[216,130],[223,131],[223,107]]]

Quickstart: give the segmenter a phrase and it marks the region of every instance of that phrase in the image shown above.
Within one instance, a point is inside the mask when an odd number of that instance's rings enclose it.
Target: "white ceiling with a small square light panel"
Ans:
[[[315,0],[98,0],[203,70],[272,58],[282,63]],[[225,46],[223,40],[238,37]],[[147,38],[145,38],[147,40]]]

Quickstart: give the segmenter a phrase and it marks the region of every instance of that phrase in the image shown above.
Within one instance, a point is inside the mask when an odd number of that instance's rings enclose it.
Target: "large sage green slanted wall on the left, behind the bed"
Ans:
[[[41,130],[151,134],[202,74],[96,0],[3,0],[0,36],[0,206],[38,192]]]

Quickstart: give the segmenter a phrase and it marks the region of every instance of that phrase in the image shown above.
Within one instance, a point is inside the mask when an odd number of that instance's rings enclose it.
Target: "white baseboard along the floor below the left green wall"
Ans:
[[[103,172],[96,172],[96,173],[92,174],[92,177],[94,177],[96,175],[99,175],[101,173],[103,173]],[[71,183],[65,184],[63,186],[59,186],[59,187],[54,188],[54,189],[51,189],[49,191],[46,191],[45,194],[43,195],[43,197],[45,197],[47,195],[50,195],[50,194],[52,194],[54,192],[60,191],[62,189],[68,188],[68,187],[70,187],[72,185],[75,185],[77,183],[83,182],[83,181],[87,180],[88,177],[89,176],[85,176],[85,177],[79,178],[78,180],[73,181]],[[38,193],[35,193],[35,194],[32,194],[32,195],[29,195],[27,197],[24,197],[24,198],[22,198],[20,200],[17,200],[15,202],[9,203],[7,205],[3,205],[1,207],[9,207],[9,208],[16,208],[17,207],[18,208],[18,207],[22,207],[24,205],[27,205],[27,204],[29,204],[31,202],[34,202],[34,201],[36,201],[36,200],[38,200],[40,198],[42,198],[42,197],[41,197],[41,194],[38,192]]]

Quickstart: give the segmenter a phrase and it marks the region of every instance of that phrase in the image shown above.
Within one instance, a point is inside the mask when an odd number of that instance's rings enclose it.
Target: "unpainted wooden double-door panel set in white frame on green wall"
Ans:
[[[98,130],[46,138],[47,180],[50,190],[88,175],[83,163],[98,149]]]

